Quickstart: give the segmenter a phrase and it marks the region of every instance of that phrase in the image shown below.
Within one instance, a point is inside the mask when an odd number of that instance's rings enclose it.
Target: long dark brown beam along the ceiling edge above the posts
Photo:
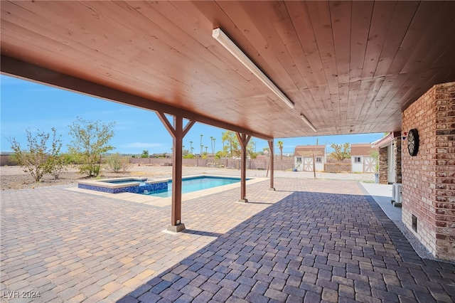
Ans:
[[[11,75],[16,78],[23,78],[25,80],[31,80],[36,83],[44,85],[50,85],[53,87],[70,90],[73,92],[80,92],[84,95],[90,95],[91,97],[99,97],[104,100],[119,102],[124,105],[131,105],[139,107],[144,110],[151,110],[154,112],[164,112],[169,115],[179,115],[186,119],[197,121],[203,124],[208,124],[214,127],[220,127],[222,129],[228,129],[232,132],[241,132],[249,134],[252,137],[257,137],[264,140],[272,140],[273,137],[261,132],[257,132],[252,129],[245,129],[244,127],[238,127],[237,125],[229,124],[217,119],[206,117],[203,115],[190,112],[188,110],[182,110],[178,107],[166,105],[164,103],[149,100],[144,97],[138,97],[131,95],[120,90],[115,90],[111,87],[104,85],[98,85],[87,80],[80,78],[71,77],[62,73],[48,70],[47,68],[41,68],[38,65],[26,63],[21,60],[1,55],[0,70],[2,74]]]

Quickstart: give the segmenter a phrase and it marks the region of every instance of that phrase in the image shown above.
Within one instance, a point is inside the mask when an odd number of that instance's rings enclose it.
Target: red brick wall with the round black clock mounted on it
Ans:
[[[402,220],[441,259],[455,260],[455,83],[435,85],[402,114],[419,132],[419,152],[402,149]]]

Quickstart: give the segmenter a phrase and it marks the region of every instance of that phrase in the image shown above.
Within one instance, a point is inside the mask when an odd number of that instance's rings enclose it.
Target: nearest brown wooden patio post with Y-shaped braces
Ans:
[[[171,224],[167,230],[178,232],[185,229],[181,222],[182,211],[182,141],[196,121],[189,121],[186,127],[183,127],[183,117],[181,115],[173,116],[173,125],[169,122],[164,112],[156,112],[164,127],[171,134],[173,139],[172,148],[172,206],[171,206]]]

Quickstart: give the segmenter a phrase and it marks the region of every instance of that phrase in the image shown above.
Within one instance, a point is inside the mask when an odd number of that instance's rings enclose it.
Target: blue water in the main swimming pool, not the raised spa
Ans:
[[[200,191],[216,186],[223,186],[240,182],[240,178],[217,177],[217,176],[197,176],[182,179],[182,193],[190,193],[192,191]],[[151,191],[143,193],[144,195],[156,196],[161,198],[172,196],[172,181],[168,181],[168,189],[161,191]]]

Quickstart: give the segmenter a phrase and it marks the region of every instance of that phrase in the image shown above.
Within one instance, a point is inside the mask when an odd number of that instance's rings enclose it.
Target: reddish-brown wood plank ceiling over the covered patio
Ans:
[[[391,132],[455,80],[454,13],[455,1],[1,1],[1,55],[264,137]]]

